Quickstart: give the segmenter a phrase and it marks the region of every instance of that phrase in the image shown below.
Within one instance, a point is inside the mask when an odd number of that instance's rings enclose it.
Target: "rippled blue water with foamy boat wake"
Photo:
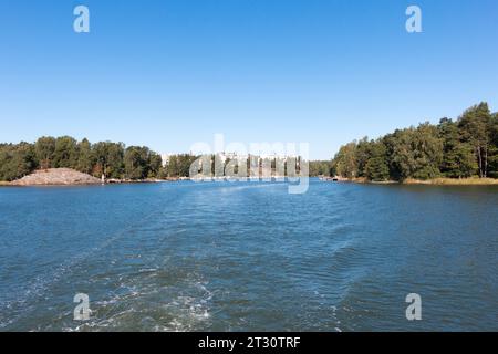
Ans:
[[[496,187],[0,188],[0,331],[497,331],[497,274]]]

